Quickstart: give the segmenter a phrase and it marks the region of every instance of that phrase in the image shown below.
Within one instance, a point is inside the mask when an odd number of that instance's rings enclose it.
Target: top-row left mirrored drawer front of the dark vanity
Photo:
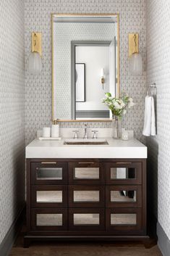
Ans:
[[[67,164],[32,163],[31,178],[33,184],[67,183]]]

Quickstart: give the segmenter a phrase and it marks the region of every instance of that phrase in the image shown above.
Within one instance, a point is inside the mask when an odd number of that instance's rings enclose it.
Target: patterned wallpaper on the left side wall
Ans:
[[[25,201],[24,1],[0,2],[0,244]]]

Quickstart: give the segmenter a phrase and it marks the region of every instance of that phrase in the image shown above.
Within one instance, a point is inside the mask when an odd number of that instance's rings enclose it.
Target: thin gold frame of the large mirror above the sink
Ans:
[[[80,14],[80,13],[75,13],[75,14],[59,14],[59,13],[51,13],[51,59],[52,59],[52,70],[51,70],[51,74],[52,74],[52,122],[54,123],[54,121],[56,121],[56,119],[54,119],[54,25],[53,25],[53,21],[54,21],[54,17],[56,16],[67,16],[67,17],[74,17],[74,16],[116,16],[117,17],[117,86],[116,86],[116,96],[119,97],[120,94],[120,35],[119,35],[119,13],[109,13],[109,14],[102,14],[102,13],[98,13],[98,14],[92,14],[92,13],[86,13],[86,14]],[[57,122],[111,122],[111,119],[107,118],[107,119],[96,119],[96,120],[90,120],[90,119],[85,119],[85,120],[72,120],[72,119],[68,119],[68,120],[64,120],[64,119],[57,119]]]

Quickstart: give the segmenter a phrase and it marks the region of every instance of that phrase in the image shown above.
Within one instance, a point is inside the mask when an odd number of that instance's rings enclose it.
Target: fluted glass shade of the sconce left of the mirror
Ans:
[[[41,73],[41,56],[38,52],[31,52],[28,59],[28,72],[33,75]]]

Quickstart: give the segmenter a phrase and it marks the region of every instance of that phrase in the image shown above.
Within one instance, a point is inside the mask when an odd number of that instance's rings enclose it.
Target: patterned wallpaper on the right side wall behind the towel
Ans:
[[[170,239],[170,3],[146,1],[147,83],[157,85],[158,135],[147,139],[153,209]]]

